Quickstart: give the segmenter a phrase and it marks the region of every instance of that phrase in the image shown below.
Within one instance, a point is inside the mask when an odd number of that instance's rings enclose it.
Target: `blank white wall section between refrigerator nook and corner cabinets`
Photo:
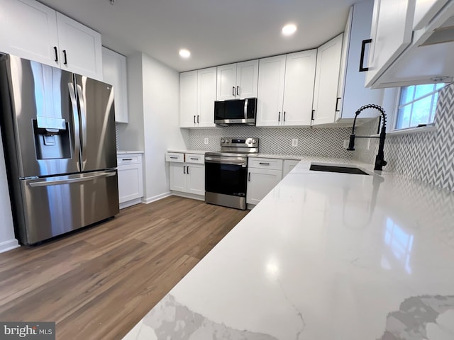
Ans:
[[[167,149],[187,149],[188,132],[179,128],[179,73],[142,55],[145,201],[170,192]]]

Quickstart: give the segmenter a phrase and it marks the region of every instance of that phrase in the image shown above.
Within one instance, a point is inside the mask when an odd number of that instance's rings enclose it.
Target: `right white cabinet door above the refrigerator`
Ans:
[[[102,80],[101,35],[57,13],[62,69]]]

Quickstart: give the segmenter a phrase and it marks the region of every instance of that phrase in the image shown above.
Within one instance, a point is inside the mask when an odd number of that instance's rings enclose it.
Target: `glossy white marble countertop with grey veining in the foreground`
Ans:
[[[299,162],[124,339],[454,339],[454,193],[383,172]]]

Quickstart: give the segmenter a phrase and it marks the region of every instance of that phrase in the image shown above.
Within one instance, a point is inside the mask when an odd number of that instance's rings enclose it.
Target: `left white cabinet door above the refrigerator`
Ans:
[[[60,67],[56,12],[38,1],[0,0],[0,51]]]

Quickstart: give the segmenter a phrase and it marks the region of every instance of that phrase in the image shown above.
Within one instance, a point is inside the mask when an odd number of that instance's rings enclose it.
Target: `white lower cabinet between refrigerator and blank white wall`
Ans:
[[[140,203],[143,197],[142,154],[118,154],[118,201],[120,208]]]

